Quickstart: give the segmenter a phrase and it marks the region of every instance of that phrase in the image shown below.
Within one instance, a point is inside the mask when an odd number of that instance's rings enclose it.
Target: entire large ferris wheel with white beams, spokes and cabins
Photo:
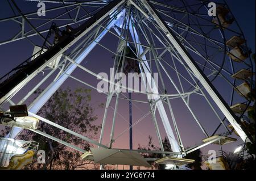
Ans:
[[[114,148],[115,141],[138,123],[154,125],[160,151],[151,153],[162,156],[161,159],[151,159],[156,163],[185,165],[192,162],[183,158],[186,154],[210,144],[224,145],[236,141],[237,138],[232,137],[234,133],[243,142],[253,141],[246,125],[251,121],[247,111],[255,99],[251,94],[254,66],[245,36],[225,1],[7,2],[10,15],[1,18],[0,23],[1,27],[13,27],[14,30],[8,33],[9,37],[1,37],[0,48],[20,41],[28,41],[32,48],[27,50],[31,56],[26,61],[0,79],[2,110],[7,111],[6,107],[10,105],[27,104],[29,116],[98,148],[86,152],[40,131],[40,128],[30,128],[31,131],[81,151],[85,159],[119,165],[148,166],[139,154],[147,151]],[[209,12],[209,3],[216,6],[215,15]],[[39,11],[39,7],[45,10]],[[86,58],[96,53],[94,49],[112,62],[107,65],[108,61]],[[111,68],[114,75],[125,71],[142,73],[139,80],[144,91],[135,90],[128,84],[120,85],[118,80],[98,74],[99,70],[109,73]],[[82,74],[74,74],[77,69]],[[157,80],[154,73],[157,73]],[[99,140],[92,140],[55,124],[54,120],[36,115],[67,79],[89,87],[106,99]],[[108,91],[98,91],[99,81],[109,84]],[[43,86],[44,91],[28,104],[33,92]],[[20,90],[26,91],[14,103],[12,99]],[[124,90],[130,90],[131,94]],[[129,102],[133,113],[143,108],[144,114],[116,134],[118,111],[122,104]],[[111,108],[113,112],[110,113]],[[109,141],[103,144],[109,120]],[[11,138],[18,136],[23,128],[14,127]],[[164,150],[162,139],[165,135],[172,151]],[[195,140],[196,144],[184,142],[188,138]],[[141,162],[125,164],[123,160],[126,159],[114,158],[98,161],[97,154],[106,153],[106,150],[109,155],[130,155]]]

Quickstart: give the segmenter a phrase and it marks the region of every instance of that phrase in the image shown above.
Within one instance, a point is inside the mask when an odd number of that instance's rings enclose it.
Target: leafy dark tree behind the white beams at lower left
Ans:
[[[35,92],[35,95],[38,95],[40,92],[42,91]],[[102,104],[100,104],[100,107],[102,107]],[[94,124],[97,115],[94,115],[89,89],[76,89],[72,91],[68,88],[66,90],[57,90],[40,109],[38,115],[91,139],[97,138],[98,130],[101,127]],[[89,142],[52,127],[43,121],[39,123],[39,130],[86,151],[91,146]],[[45,164],[39,164],[35,159],[32,164],[26,166],[26,169],[98,169],[98,165],[82,160],[80,158],[82,153],[79,151],[67,148],[47,137],[24,130],[19,138],[21,140],[39,142],[39,150],[46,152]]]

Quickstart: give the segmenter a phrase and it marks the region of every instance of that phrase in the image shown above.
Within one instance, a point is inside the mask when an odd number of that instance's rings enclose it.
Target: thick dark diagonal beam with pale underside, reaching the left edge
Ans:
[[[110,15],[117,7],[121,6],[125,0],[117,0],[109,3],[100,12],[97,12],[87,22],[73,30],[69,35],[63,36],[59,43],[47,50],[46,53],[35,58],[24,68],[11,75],[10,78],[0,84],[0,105],[12,98],[16,92],[26,85],[32,78],[42,71],[55,58],[68,50],[73,44],[79,41],[86,33],[96,27],[103,19]]]

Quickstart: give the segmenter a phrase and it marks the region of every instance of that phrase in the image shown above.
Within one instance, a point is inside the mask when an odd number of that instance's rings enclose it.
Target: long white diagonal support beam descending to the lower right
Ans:
[[[217,104],[218,108],[220,108],[221,112],[226,116],[229,123],[232,124],[234,129],[237,131],[239,136],[242,138],[244,142],[251,142],[253,138],[246,131],[246,129],[240,125],[241,120],[233,113],[228,104],[225,102],[224,98],[218,93],[216,88],[212,85],[212,82],[209,81],[207,76],[203,73],[203,71],[196,64],[196,61],[193,60],[192,56],[187,52],[185,47],[180,43],[179,39],[175,36],[175,33],[167,26],[167,24],[162,20],[162,18],[155,11],[154,7],[148,3],[146,0],[141,0],[144,7],[148,10],[149,14],[151,14],[152,18],[158,24],[158,26],[166,33],[168,40],[170,40],[171,44],[174,45],[177,52],[179,52],[180,56],[189,66],[189,68],[193,71],[196,78],[199,79],[200,83],[204,86],[205,90],[207,90],[208,94],[212,97],[214,102]]]

